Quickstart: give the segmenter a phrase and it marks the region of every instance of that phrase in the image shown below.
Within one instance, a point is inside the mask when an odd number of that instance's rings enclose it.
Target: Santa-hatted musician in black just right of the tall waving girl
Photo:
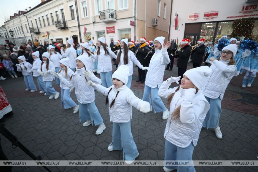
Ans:
[[[177,58],[177,67],[178,67],[178,76],[181,76],[181,79],[183,78],[184,72],[186,72],[187,69],[187,63],[190,57],[191,48],[189,45],[190,39],[183,39],[181,41],[182,47],[176,50],[176,58]],[[179,81],[181,83],[181,80]]]

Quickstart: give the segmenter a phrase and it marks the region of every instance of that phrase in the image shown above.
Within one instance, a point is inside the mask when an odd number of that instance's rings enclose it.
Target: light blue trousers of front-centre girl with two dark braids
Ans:
[[[123,160],[134,160],[138,150],[131,132],[131,121],[126,123],[113,122],[112,143],[114,150],[123,149]]]

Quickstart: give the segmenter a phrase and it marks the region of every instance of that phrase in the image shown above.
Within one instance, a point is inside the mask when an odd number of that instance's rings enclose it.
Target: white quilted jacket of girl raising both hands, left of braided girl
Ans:
[[[64,85],[67,87],[74,86],[75,88],[75,95],[79,103],[86,104],[91,103],[95,100],[95,92],[92,86],[87,86],[87,81],[84,77],[85,68],[76,69],[77,71],[74,72],[72,80],[68,81],[66,79],[61,79]],[[90,78],[87,77],[87,80],[91,80],[96,84],[101,84],[101,79],[95,77],[94,74],[91,74]]]

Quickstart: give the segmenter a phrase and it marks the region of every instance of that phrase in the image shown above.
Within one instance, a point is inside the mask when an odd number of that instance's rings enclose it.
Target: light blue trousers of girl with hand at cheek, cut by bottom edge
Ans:
[[[166,140],[164,161],[192,161],[193,149],[194,145],[192,143],[186,148],[181,148]],[[177,169],[178,172],[195,172],[194,166],[166,166],[165,163],[166,162],[164,162],[164,166],[166,168]]]

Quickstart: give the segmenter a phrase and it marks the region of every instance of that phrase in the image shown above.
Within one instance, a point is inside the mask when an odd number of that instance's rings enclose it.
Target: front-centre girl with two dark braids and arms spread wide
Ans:
[[[96,90],[106,95],[106,104],[109,105],[110,122],[113,122],[112,143],[108,150],[123,150],[123,160],[131,164],[138,157],[139,152],[133,141],[131,132],[132,106],[143,113],[150,110],[150,104],[137,98],[126,86],[129,67],[121,65],[112,75],[113,85],[109,88],[88,81]]]

